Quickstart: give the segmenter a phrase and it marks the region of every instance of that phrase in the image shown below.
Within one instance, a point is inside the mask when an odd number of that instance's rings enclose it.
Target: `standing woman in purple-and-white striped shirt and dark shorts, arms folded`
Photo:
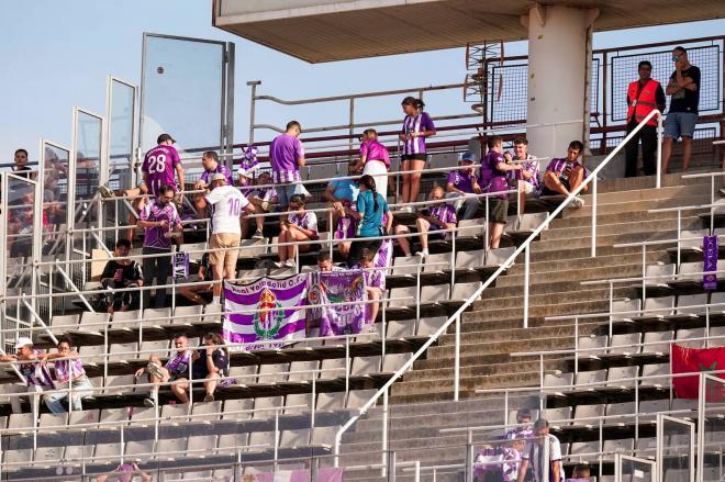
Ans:
[[[425,167],[427,154],[425,150],[425,138],[435,135],[435,125],[431,116],[423,112],[425,104],[422,100],[406,97],[401,102],[405,119],[400,132],[403,142],[403,197],[402,203],[417,201],[421,189],[421,170]],[[413,212],[412,206],[403,206],[401,211]]]

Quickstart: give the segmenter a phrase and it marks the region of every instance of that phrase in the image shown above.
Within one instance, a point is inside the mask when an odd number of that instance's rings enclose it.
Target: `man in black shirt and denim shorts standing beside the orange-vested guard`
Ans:
[[[672,155],[672,145],[682,137],[682,170],[690,167],[692,156],[692,135],[698,123],[698,105],[700,104],[700,69],[688,60],[688,52],[683,47],[672,51],[674,72],[670,76],[666,92],[670,98],[670,110],[665,120],[665,141],[662,142],[662,172]]]

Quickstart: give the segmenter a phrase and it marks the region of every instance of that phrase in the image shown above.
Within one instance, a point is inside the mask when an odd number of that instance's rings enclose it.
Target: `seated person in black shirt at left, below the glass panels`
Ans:
[[[131,251],[131,242],[129,239],[119,239],[115,244],[114,258],[125,258]],[[132,259],[112,259],[103,268],[101,273],[101,284],[108,290],[107,304],[108,312],[127,311],[132,304],[138,302],[137,291],[114,290],[122,288],[141,287],[144,284],[138,264]]]

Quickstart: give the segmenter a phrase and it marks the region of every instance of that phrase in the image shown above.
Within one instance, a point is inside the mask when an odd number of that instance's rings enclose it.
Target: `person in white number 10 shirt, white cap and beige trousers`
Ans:
[[[212,249],[238,248],[242,239],[242,213],[254,213],[254,206],[238,189],[227,184],[223,173],[212,176],[210,187],[211,191],[204,197],[207,204],[212,208],[212,235],[209,246]],[[238,249],[210,253],[209,262],[214,267],[214,281],[235,277],[238,256]],[[212,304],[219,304],[221,294],[221,283],[214,283]]]

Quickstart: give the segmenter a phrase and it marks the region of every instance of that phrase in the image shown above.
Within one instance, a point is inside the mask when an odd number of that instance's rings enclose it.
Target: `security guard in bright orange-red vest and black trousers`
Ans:
[[[643,60],[637,66],[639,80],[629,83],[627,89],[627,134],[629,134],[652,110],[665,111],[665,90],[657,80],[651,79],[652,65]],[[657,119],[650,119],[639,130],[635,137],[624,147],[626,168],[625,176],[637,176],[637,154],[642,139],[642,164],[645,176],[657,173]]]

